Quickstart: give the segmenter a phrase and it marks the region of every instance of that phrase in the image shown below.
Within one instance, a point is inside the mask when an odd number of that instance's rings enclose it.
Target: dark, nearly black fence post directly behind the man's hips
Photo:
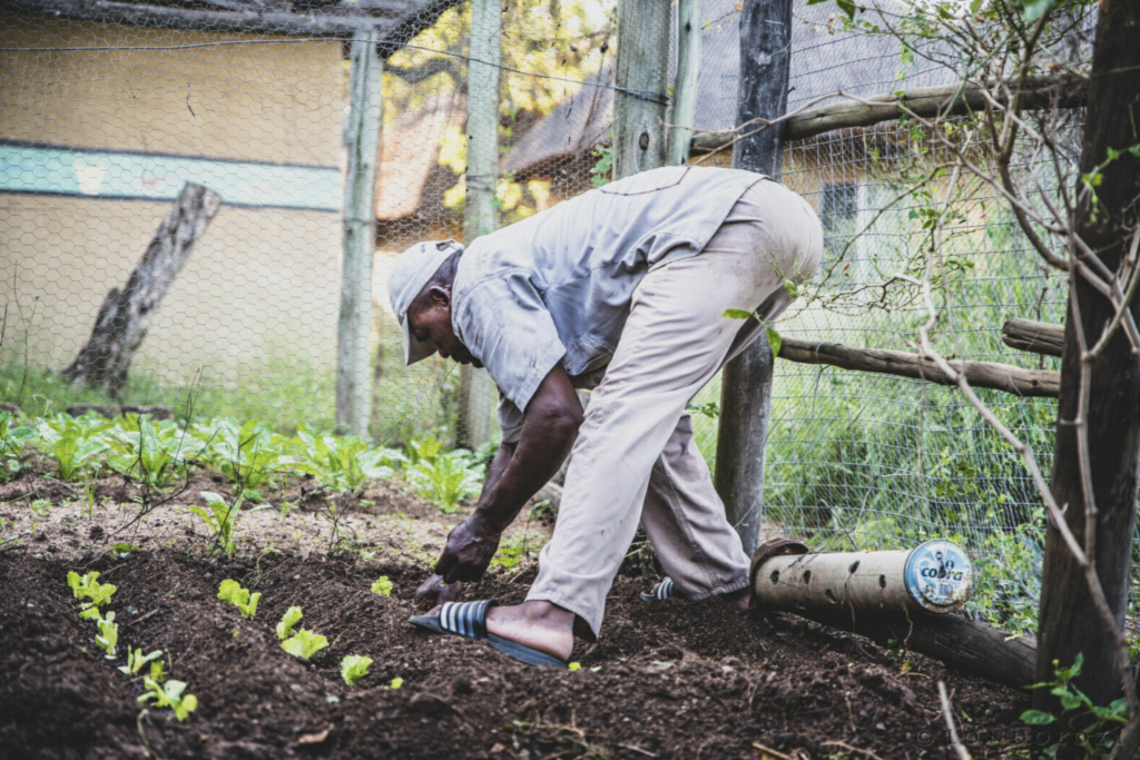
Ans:
[[[744,0],[738,124],[787,112],[790,54],[791,0]],[[782,142],[779,126],[758,132],[735,145],[732,164],[780,179]],[[724,368],[720,386],[716,489],[749,555],[759,540],[773,363],[772,348],[760,336]]]

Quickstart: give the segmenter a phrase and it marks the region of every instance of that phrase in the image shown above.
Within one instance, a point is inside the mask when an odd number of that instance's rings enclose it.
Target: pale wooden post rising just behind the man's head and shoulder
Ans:
[[[502,56],[502,15],[498,0],[471,0],[471,62],[467,67],[467,171],[463,205],[463,237],[470,244],[495,230],[498,181],[498,89]],[[478,63],[484,62],[484,63]],[[486,369],[459,370],[458,442],[471,448],[491,438],[497,398]]]

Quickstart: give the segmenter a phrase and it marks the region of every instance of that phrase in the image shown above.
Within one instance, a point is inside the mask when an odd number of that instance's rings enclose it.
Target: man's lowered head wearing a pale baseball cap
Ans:
[[[396,260],[388,292],[404,330],[406,363],[439,351],[445,359],[482,367],[451,325],[451,288],[462,253],[455,240],[417,243]]]

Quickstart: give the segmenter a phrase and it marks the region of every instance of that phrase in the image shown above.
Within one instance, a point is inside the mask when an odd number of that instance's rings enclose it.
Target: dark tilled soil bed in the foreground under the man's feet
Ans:
[[[79,619],[68,570],[117,586],[116,661]],[[316,555],[160,549],[83,565],[0,554],[0,758],[950,758],[938,680],[975,758],[1026,739],[1008,689],[793,616],[644,605],[644,583],[628,578],[598,643],[579,643],[581,670],[530,669],[409,626],[423,573]],[[381,574],[392,598],[369,590]],[[469,598],[519,602],[532,574],[492,573]],[[254,620],[217,599],[227,578],[262,591]],[[311,663],[278,645],[291,605],[328,637]],[[140,714],[141,683],[116,670],[128,646],[168,654],[199,701],[185,722]],[[345,654],[374,660],[355,687],[339,673]]]

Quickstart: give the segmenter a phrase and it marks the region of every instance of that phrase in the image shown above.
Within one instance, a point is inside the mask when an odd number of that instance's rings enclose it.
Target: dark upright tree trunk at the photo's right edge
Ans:
[[[1093,43],[1092,76],[1085,117],[1081,171],[1093,172],[1108,149],[1125,150],[1140,142],[1140,2],[1102,0]],[[1126,226],[1137,223],[1140,196],[1140,158],[1123,154],[1102,169],[1097,188],[1099,203],[1085,203],[1074,220],[1077,232],[1097,251],[1113,271],[1126,254],[1131,236]],[[1080,276],[1076,301],[1088,345],[1102,334],[1113,317],[1113,305]],[[1078,408],[1077,389],[1081,356],[1072,319],[1065,327],[1061,360],[1061,391],[1053,453],[1051,490],[1057,502],[1067,506],[1065,518],[1084,542],[1085,501],[1078,466],[1078,441],[1074,422]],[[1132,313],[1140,309],[1131,304]],[[1090,480],[1098,515],[1096,555],[1092,558],[1112,607],[1122,626],[1127,600],[1130,561],[1137,507],[1138,455],[1140,455],[1140,361],[1132,354],[1123,330],[1092,363],[1088,415]],[[1084,667],[1076,685],[1100,705],[1122,694],[1121,676],[1112,637],[1101,624],[1085,579],[1050,525],[1045,537],[1037,644],[1037,680],[1051,680],[1053,661],[1072,664],[1077,653]],[[1057,710],[1045,689],[1035,693],[1037,706]]]

